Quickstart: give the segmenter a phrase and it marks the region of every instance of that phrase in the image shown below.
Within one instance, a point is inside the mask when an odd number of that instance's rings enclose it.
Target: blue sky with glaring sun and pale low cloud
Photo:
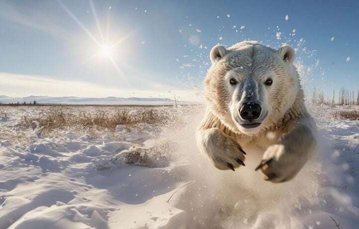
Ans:
[[[358,1],[2,0],[0,94],[200,100],[210,48],[245,39],[296,48],[307,89],[358,90],[358,21]]]

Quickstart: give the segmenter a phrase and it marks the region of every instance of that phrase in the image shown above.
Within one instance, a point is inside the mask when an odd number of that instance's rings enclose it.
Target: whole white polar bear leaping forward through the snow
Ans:
[[[245,166],[246,148],[263,149],[256,170],[277,183],[293,178],[317,151],[316,125],[304,104],[295,51],[257,41],[216,45],[204,80],[207,111],[197,144],[212,164]]]

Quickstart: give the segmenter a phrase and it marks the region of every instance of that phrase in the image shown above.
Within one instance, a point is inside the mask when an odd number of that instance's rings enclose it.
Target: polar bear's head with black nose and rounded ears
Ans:
[[[204,80],[213,114],[236,132],[255,134],[277,122],[300,89],[294,50],[244,41],[210,52],[212,66]]]

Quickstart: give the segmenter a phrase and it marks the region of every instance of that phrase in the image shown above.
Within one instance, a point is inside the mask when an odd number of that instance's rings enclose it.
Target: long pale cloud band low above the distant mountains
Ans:
[[[168,91],[176,93],[180,100],[200,101],[192,90],[178,90],[163,84],[153,85],[156,89],[113,88],[83,81],[59,80],[44,76],[0,73],[0,92],[11,97],[25,96],[77,96],[77,97],[156,97],[171,98]],[[161,87],[161,90],[158,88]]]

